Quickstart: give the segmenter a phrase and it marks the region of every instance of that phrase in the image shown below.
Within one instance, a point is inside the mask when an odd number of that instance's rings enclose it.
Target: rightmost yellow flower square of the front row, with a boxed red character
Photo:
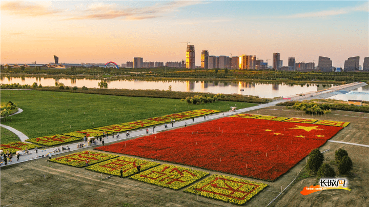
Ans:
[[[242,205],[267,186],[261,182],[214,174],[183,191]]]

